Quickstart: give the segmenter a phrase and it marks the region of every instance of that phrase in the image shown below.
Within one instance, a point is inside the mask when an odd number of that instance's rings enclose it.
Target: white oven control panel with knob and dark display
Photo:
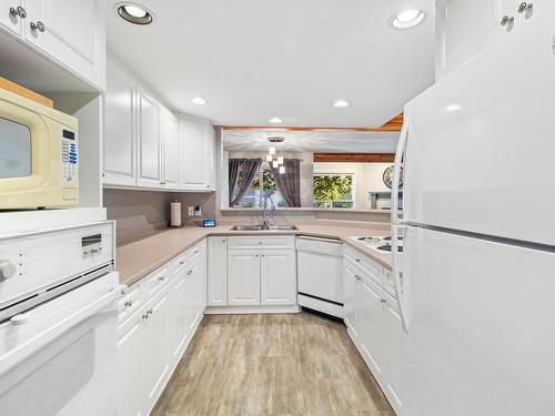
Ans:
[[[113,222],[0,240],[0,310],[113,264]]]

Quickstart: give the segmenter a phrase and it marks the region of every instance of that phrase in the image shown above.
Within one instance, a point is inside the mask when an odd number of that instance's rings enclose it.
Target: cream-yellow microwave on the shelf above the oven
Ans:
[[[79,202],[75,118],[0,89],[0,210]]]

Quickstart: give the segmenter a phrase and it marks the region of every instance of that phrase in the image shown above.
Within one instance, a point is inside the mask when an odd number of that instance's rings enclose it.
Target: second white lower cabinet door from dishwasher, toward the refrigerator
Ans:
[[[383,331],[383,291],[364,274],[357,293],[357,308],[361,311],[360,341],[370,369],[381,377],[385,362],[385,339]]]

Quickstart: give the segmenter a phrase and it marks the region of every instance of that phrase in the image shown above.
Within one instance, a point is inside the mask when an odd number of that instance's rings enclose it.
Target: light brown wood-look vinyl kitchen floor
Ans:
[[[153,416],[395,416],[343,324],[205,315]]]

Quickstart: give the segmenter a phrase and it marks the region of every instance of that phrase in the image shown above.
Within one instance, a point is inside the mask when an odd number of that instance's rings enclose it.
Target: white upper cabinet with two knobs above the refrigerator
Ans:
[[[500,37],[517,30],[529,12],[517,0],[436,0],[436,79]],[[506,17],[506,18],[505,18]]]

